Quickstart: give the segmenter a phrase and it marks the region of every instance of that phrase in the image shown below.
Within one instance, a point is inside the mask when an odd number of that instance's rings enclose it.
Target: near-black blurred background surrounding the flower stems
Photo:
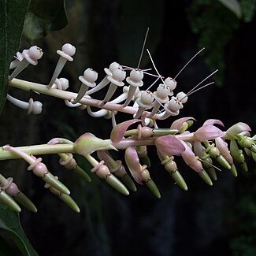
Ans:
[[[243,1],[246,2],[246,1]],[[247,1],[249,2],[249,1]],[[251,2],[251,8],[254,1]],[[143,37],[150,28],[147,47],[163,76],[176,73],[202,46],[204,53],[177,78],[176,92],[189,91],[214,69],[220,69],[210,86],[191,95],[180,117],[195,117],[195,128],[208,118],[221,119],[228,128],[243,121],[256,130],[255,117],[255,17],[239,20],[217,1],[69,1],[69,24],[35,42],[44,51],[37,67],[20,78],[47,83],[58,59],[54,52],[64,43],[76,46],[73,63],[62,76],[69,79],[70,91],[78,91],[77,77],[91,67],[104,76],[103,68],[113,61],[136,66]],[[196,32],[196,33],[195,33]],[[23,42],[22,47],[28,47]],[[143,68],[152,67],[147,54]],[[145,83],[149,83],[147,81]],[[11,88],[12,94],[28,98]],[[98,95],[102,98],[102,95]],[[84,132],[102,139],[109,137],[111,123],[94,119],[80,109],[68,109],[64,102],[33,95],[43,102],[43,113],[27,116],[6,102],[2,113],[2,144],[13,146],[46,143],[54,137],[75,140]],[[118,121],[129,118],[117,116]],[[159,123],[169,127],[170,118]],[[195,129],[191,128],[191,131]],[[38,213],[23,210],[20,219],[40,255],[254,255],[256,253],[255,168],[247,159],[250,173],[239,169],[234,178],[223,170],[213,187],[182,161],[180,173],[188,191],[177,187],[149,150],[150,174],[161,191],[154,198],[145,186],[137,186],[128,197],[91,175],[85,184],[58,165],[57,156],[43,156],[53,173],[67,184],[80,214],[72,212],[43,188],[41,180],[26,171],[20,160],[5,161],[5,172],[13,173],[22,190],[38,207]],[[123,159],[123,152],[117,155]],[[81,159],[80,159],[81,160]],[[88,173],[89,169],[88,169]]]

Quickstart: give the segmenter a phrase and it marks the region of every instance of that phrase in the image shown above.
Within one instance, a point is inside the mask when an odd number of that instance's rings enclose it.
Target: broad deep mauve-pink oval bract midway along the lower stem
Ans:
[[[175,135],[164,135],[154,139],[154,144],[161,155],[177,155],[184,152],[185,147]]]

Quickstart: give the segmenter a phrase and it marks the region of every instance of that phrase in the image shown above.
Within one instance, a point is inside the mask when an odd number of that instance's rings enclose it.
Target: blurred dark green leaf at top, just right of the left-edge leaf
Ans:
[[[24,36],[32,43],[66,24],[65,0],[32,0],[24,23]]]

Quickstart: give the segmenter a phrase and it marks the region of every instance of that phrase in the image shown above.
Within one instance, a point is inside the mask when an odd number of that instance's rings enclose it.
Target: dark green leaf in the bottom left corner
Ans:
[[[23,255],[38,255],[20,225],[19,215],[0,203],[0,228],[6,230]]]

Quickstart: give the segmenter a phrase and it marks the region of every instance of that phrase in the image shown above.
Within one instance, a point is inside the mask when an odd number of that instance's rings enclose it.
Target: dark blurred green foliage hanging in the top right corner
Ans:
[[[213,77],[217,85],[224,83],[228,43],[232,42],[234,33],[242,21],[250,22],[255,13],[255,0],[242,0],[240,4],[236,3],[239,6],[232,9],[213,0],[195,0],[187,8],[191,29],[198,34],[198,46],[206,47],[203,53],[206,64],[212,70],[216,67],[219,70]],[[228,2],[228,5],[231,5],[231,2]],[[241,17],[237,9],[241,9]]]

